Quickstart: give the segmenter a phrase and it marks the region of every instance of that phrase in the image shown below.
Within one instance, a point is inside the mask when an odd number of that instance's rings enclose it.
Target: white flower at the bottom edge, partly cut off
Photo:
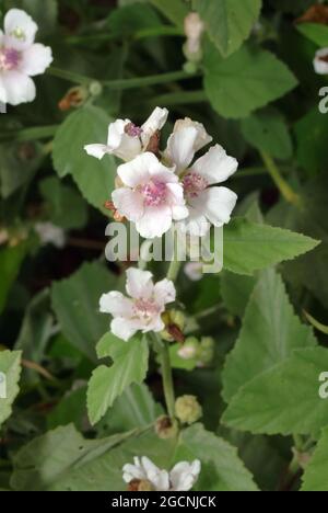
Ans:
[[[189,491],[196,483],[200,474],[200,461],[192,464],[178,463],[168,474],[157,468],[149,458],[134,458],[133,465],[124,466],[124,480],[130,483],[133,480],[148,481],[154,491]]]

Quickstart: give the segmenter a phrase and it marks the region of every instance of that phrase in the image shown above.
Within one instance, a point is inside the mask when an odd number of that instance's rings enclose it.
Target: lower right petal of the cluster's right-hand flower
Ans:
[[[238,196],[226,187],[207,189],[200,196],[192,200],[192,206],[201,212],[216,227],[227,224]]]

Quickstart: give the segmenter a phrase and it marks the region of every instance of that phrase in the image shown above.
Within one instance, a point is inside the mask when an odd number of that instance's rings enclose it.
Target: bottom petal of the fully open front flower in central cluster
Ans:
[[[136,223],[138,232],[144,239],[162,237],[172,226],[172,209],[169,206],[149,206],[144,208],[141,219]]]

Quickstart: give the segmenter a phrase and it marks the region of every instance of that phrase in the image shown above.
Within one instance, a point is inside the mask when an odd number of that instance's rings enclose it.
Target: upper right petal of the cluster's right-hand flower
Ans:
[[[237,171],[237,160],[229,157],[222,146],[216,145],[195,162],[191,171],[203,176],[212,185],[225,182]]]

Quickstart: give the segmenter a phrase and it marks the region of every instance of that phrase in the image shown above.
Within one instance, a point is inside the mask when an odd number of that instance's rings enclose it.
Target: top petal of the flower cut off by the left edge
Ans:
[[[4,16],[5,42],[9,46],[23,49],[34,42],[37,24],[21,9],[11,9]]]

